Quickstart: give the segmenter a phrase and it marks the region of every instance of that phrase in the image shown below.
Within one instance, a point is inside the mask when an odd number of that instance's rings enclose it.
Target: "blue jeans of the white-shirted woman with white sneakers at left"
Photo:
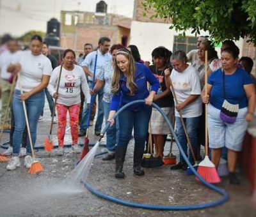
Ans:
[[[38,119],[42,110],[44,109],[44,95],[44,91],[41,91],[40,93],[33,94],[25,101],[33,146],[35,146],[36,142],[36,128],[38,124]],[[20,101],[20,91],[18,90],[15,90],[13,96],[13,114],[15,119],[15,129],[13,133],[13,156],[18,156],[20,152],[22,134],[26,126],[23,105]],[[31,154],[29,137],[27,139],[27,153]]]

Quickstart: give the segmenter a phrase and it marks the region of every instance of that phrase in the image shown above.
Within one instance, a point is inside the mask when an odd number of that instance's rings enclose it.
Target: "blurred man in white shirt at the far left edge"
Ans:
[[[11,64],[13,61],[16,61],[17,57],[17,50],[19,49],[19,46],[17,44],[17,41],[10,40],[6,43],[6,47],[8,50],[4,51],[0,56],[0,70],[1,70],[1,87],[2,87],[2,112],[1,112],[1,127],[4,130],[10,129],[11,124],[11,117],[10,115],[7,116],[5,124],[4,116],[8,110],[8,100],[10,98],[10,92],[12,87],[12,82],[15,82],[15,80],[12,81],[12,73],[9,73],[7,71],[7,68],[9,64]]]

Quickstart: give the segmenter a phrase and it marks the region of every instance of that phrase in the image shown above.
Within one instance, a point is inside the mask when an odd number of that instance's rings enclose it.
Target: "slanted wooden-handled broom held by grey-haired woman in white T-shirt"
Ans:
[[[175,100],[175,103],[176,105],[178,104],[178,100],[177,100],[177,96],[175,94],[175,90],[174,90],[174,87],[173,87],[173,84],[172,84],[172,80],[170,79],[170,85],[171,85],[171,89],[172,89],[172,94],[173,94],[173,97],[174,97],[174,100]],[[188,141],[188,145],[189,145],[189,149],[191,151],[191,154],[193,156],[193,160],[195,161],[195,164],[193,165],[193,168],[195,168],[195,170],[197,170],[197,167],[198,167],[198,164],[196,163],[196,156],[195,156],[195,153],[194,153],[194,150],[193,150],[193,147],[191,145],[191,142],[190,142],[190,139],[189,139],[189,136],[188,136],[188,131],[186,129],[186,126],[185,126],[185,123],[184,123],[184,120],[183,120],[183,117],[182,117],[182,112],[181,110],[179,110],[179,115],[180,115],[180,121],[182,123],[182,126],[183,126],[183,129],[184,129],[184,133],[186,135],[186,138],[187,138],[187,141]],[[194,174],[193,171],[191,170],[191,168],[187,168],[187,174]]]

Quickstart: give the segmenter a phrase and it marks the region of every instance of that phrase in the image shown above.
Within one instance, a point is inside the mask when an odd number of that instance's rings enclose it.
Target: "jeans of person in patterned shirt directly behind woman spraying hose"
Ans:
[[[104,117],[106,124],[108,123],[108,115],[109,115],[109,110],[110,110],[110,103],[107,103],[106,101],[104,102]],[[106,131],[107,134],[107,144],[106,147],[109,152],[114,152],[115,151],[115,146],[116,146],[116,138],[117,138],[117,132],[118,132],[118,117],[116,117],[116,124],[114,126],[109,127],[108,130]]]

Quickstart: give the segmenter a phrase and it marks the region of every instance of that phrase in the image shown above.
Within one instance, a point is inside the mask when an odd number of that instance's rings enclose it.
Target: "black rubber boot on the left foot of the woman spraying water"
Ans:
[[[123,165],[126,154],[127,147],[116,146],[115,148],[115,158],[116,158],[116,174],[117,179],[124,178]]]

